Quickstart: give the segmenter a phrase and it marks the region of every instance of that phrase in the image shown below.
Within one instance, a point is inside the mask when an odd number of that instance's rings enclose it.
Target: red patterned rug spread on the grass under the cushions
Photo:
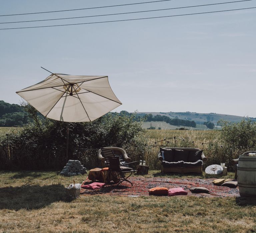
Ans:
[[[148,190],[153,187],[166,187],[176,188],[182,187],[188,192],[189,196],[199,197],[239,197],[239,189],[229,188],[224,186],[216,186],[212,184],[215,178],[211,179],[199,179],[199,178],[188,178],[188,179],[171,179],[171,178],[144,178],[144,177],[129,177],[129,180],[133,183],[133,186],[128,182],[123,182],[121,185],[116,184],[104,186],[98,190],[82,189],[80,194],[95,195],[104,194],[110,196],[149,196]],[[192,187],[205,187],[210,190],[210,193],[191,193],[189,188]]]

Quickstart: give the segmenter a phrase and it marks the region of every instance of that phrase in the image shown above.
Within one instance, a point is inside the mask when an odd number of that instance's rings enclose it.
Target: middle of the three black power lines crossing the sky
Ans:
[[[42,20],[27,20],[27,21],[4,22],[4,23],[0,23],[0,24],[7,24],[7,23],[27,23],[27,22],[50,21],[50,20],[79,19],[79,18],[98,17],[98,16],[123,15],[123,14],[133,14],[133,13],[143,13],[143,12],[152,12],[152,11],[164,11],[164,10],[174,10],[174,9],[182,9],[182,8],[191,8],[191,7],[201,7],[201,6],[211,6],[211,5],[229,4],[229,3],[246,2],[246,1],[252,1],[252,0],[241,0],[241,1],[233,1],[233,2],[222,2],[222,3],[213,3],[213,4],[205,4],[205,5],[184,6],[184,7],[174,7],[174,8],[158,9],[158,10],[134,11],[134,12],[125,12],[125,13],[116,13],[116,14],[105,14],[105,15],[91,15],[91,16],[80,16],[80,17],[69,17],[69,18],[58,18],[58,19],[42,19]]]

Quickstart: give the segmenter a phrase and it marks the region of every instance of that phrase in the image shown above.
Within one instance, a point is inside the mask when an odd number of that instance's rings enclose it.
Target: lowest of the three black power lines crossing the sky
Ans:
[[[240,8],[240,9],[232,9],[232,10],[223,10],[223,11],[209,11],[209,12],[200,12],[200,13],[191,13],[191,14],[168,15],[168,16],[147,17],[147,18],[138,18],[138,19],[111,20],[111,21],[91,22],[91,23],[75,23],[75,24],[61,24],[61,25],[48,25],[48,26],[35,26],[35,27],[19,27],[19,28],[0,28],[0,30],[25,29],[25,28],[46,28],[46,27],[59,27],[59,26],[71,26],[71,25],[82,25],[82,24],[97,24],[97,23],[112,23],[112,22],[123,22],[123,21],[143,20],[143,19],[157,19],[157,18],[167,18],[167,17],[176,17],[176,16],[200,15],[200,14],[217,13],[217,12],[227,12],[227,11],[255,9],[255,8],[256,7],[248,7],[248,8]]]

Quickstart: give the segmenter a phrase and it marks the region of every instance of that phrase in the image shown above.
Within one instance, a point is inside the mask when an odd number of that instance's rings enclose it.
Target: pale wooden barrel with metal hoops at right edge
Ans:
[[[256,196],[256,156],[239,156],[237,176],[240,196]]]

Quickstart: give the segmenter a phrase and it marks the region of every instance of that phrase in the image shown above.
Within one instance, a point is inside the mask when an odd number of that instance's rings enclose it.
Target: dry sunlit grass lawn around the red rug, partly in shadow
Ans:
[[[147,177],[161,177],[150,171]],[[202,175],[166,175],[172,178]],[[164,177],[166,177],[164,176]],[[229,178],[234,173],[229,173]],[[86,175],[77,176],[77,182]],[[0,171],[1,232],[255,232],[256,201],[245,198],[81,195],[65,202],[73,177]]]

